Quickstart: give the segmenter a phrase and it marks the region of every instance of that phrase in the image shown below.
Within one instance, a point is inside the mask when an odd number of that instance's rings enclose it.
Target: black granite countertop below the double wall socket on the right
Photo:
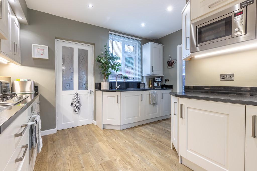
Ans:
[[[250,95],[198,92],[171,92],[170,95],[182,98],[257,106],[257,96]]]

